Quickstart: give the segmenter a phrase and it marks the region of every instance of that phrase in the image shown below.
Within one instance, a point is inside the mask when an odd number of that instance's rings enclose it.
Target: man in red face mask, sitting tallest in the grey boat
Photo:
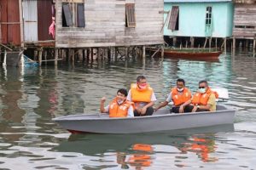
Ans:
[[[131,84],[127,100],[134,102],[134,116],[151,116],[154,112],[153,105],[156,101],[153,88],[150,88],[146,77],[138,76],[137,83]]]

